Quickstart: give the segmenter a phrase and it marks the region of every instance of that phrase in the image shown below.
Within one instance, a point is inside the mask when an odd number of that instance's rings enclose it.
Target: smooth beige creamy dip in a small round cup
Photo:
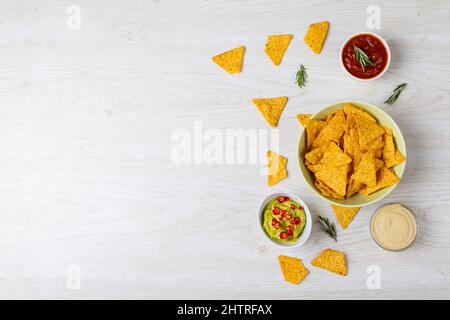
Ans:
[[[373,214],[370,231],[382,248],[399,251],[408,247],[416,238],[416,219],[403,205],[387,204]]]

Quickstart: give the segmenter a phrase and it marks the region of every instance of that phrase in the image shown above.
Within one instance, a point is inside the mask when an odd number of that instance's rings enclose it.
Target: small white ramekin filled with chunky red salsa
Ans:
[[[355,55],[355,47],[362,50],[371,64],[363,67]],[[389,46],[380,36],[364,32],[350,36],[341,48],[341,64],[344,70],[358,80],[374,80],[381,77],[391,63]]]

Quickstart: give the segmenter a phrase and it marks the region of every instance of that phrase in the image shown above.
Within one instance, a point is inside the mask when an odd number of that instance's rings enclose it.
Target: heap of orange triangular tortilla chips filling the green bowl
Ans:
[[[299,117],[300,119],[300,117]],[[325,120],[302,119],[306,130],[305,165],[316,188],[326,197],[369,195],[400,182],[393,167],[405,157],[392,129],[377,124],[367,112],[344,104]]]

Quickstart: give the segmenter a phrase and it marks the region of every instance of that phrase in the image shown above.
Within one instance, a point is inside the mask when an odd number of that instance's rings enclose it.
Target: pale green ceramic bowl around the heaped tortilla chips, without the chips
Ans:
[[[320,112],[313,115],[312,119],[314,119],[314,120],[325,119],[328,114],[336,111],[337,109],[342,108],[344,103],[350,103],[356,107],[363,109],[364,111],[370,113],[373,117],[375,117],[378,120],[379,124],[392,128],[393,133],[394,133],[394,140],[397,145],[397,148],[406,157],[405,140],[403,139],[400,128],[397,126],[395,121],[386,112],[384,112],[383,110],[381,110],[380,108],[378,108],[372,104],[369,104],[366,102],[360,102],[360,101],[338,102],[338,103],[334,103],[334,104],[322,109]],[[302,175],[306,181],[306,184],[311,188],[311,190],[315,194],[317,194],[320,198],[322,198],[332,204],[336,204],[338,206],[343,206],[343,207],[367,206],[367,205],[373,204],[373,203],[383,199],[384,197],[386,197],[392,190],[394,190],[394,188],[396,186],[396,185],[393,185],[391,187],[380,189],[368,196],[357,193],[348,199],[332,199],[332,198],[325,197],[314,186],[314,175],[306,168],[305,163],[304,163],[305,153],[306,153],[306,133],[305,133],[305,130],[303,129],[303,131],[300,135],[300,139],[298,141],[298,166],[300,168],[300,171],[302,172]],[[405,164],[406,164],[406,161],[404,161],[403,163],[394,167],[395,173],[400,178],[402,177],[403,172],[405,171]]]

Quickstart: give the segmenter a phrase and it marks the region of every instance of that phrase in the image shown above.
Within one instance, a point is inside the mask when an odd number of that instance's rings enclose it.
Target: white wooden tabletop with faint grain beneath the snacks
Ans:
[[[338,55],[348,35],[369,31],[370,4],[2,0],[0,298],[450,298],[450,2],[374,3],[381,29],[372,31],[393,62],[364,83],[343,73]],[[316,56],[302,38],[325,19]],[[279,67],[263,52],[275,33],[295,35]],[[211,62],[239,45],[241,74]],[[293,83],[300,64],[304,89]],[[407,90],[384,106],[402,82]],[[281,95],[289,177],[278,185],[266,186],[260,164],[173,162],[178,129],[267,129],[251,99]],[[271,245],[256,220],[270,192],[294,192],[315,217],[333,218],[297,169],[295,115],[348,99],[382,106],[401,127],[402,182],[339,227],[336,244],[314,225],[302,248]],[[411,207],[420,228],[401,253],[383,251],[369,232],[373,210],[392,201]],[[326,247],[345,251],[347,277],[310,265]],[[304,259],[310,274],[300,286],[283,280],[279,254]],[[380,289],[366,284],[370,266]]]

